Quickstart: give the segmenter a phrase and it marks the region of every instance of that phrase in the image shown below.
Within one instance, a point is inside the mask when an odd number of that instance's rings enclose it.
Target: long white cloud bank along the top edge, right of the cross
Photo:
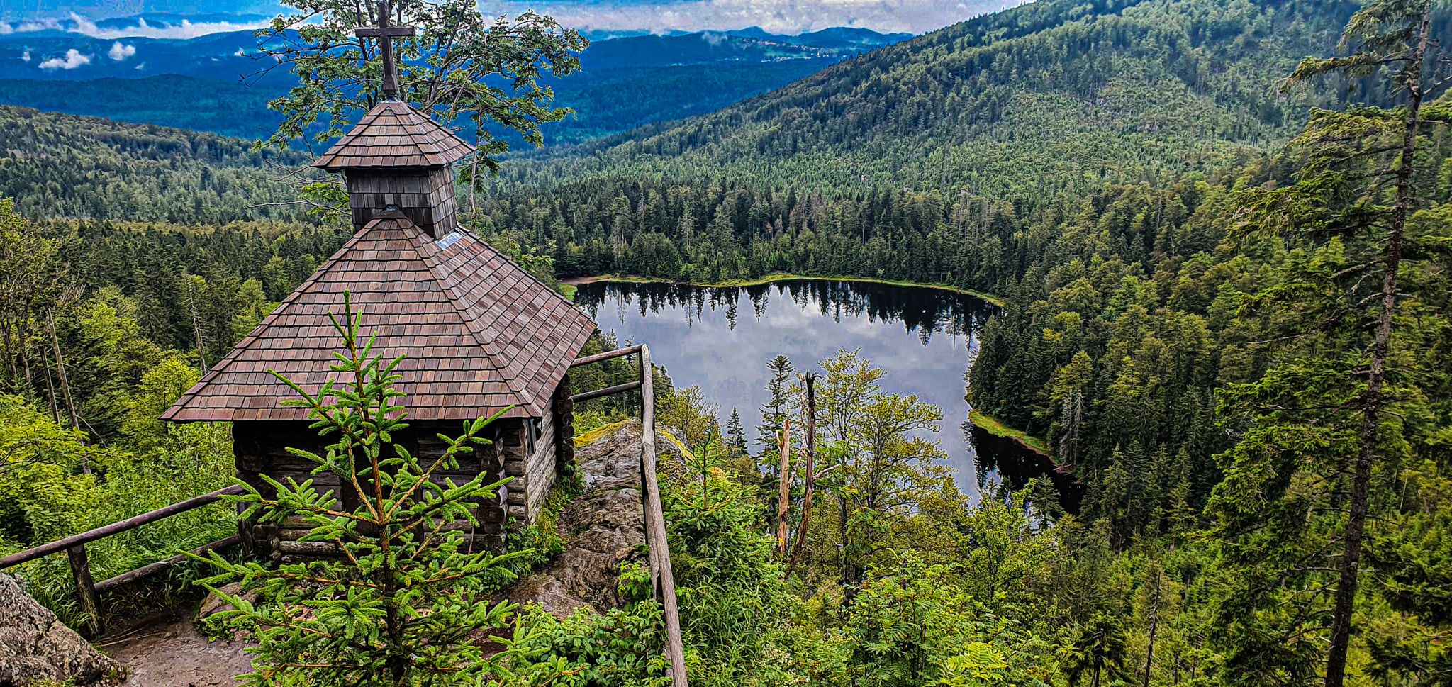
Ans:
[[[803,33],[832,26],[923,33],[1024,0],[482,0],[486,13],[536,9],[565,26],[594,31],[730,31],[761,26],[774,33]]]

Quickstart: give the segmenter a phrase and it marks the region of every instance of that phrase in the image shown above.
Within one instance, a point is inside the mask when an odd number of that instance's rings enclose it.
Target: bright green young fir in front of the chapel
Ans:
[[[343,318],[330,320],[343,337],[340,362],[331,367],[335,378],[309,394],[273,375],[301,397],[285,405],[308,408],[312,427],[333,439],[322,455],[289,450],[317,463],[314,473],[331,472],[350,485],[359,504],[343,507],[340,494],[319,492],[311,479],[277,484],[266,475],[276,497],[251,487],[238,497],[248,504],[242,519],[282,524],[302,517],[311,526],[303,542],[331,542],[340,552],[277,568],[212,553],[208,561],[224,572],[203,584],[232,606],[218,617],[256,632],[258,641],[248,649],[257,655],[256,672],[241,680],[258,687],[479,684],[498,668],[481,652],[478,636],[502,627],[511,610],[488,603],[486,594],[514,578],[505,564],[527,552],[473,550],[466,530],[454,527],[478,524],[475,503],[495,498],[504,482],[484,484],[481,473],[462,485],[440,484],[434,473],[456,469],[459,455],[488,443],[481,434],[494,418],[465,423],[457,437],[440,434],[447,449],[437,459],[412,456],[393,443],[408,427],[398,401],[404,394],[392,388],[402,356],[383,360],[373,353],[376,336],[362,338],[347,293]],[[261,601],[213,587],[234,580]]]

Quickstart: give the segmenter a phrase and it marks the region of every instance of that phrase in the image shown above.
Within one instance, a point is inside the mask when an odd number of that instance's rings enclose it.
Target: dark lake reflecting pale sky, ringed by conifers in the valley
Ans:
[[[967,421],[976,334],[996,311],[982,299],[945,289],[791,280],[743,288],[594,282],[581,285],[575,301],[620,346],[650,344],[652,360],[677,386],[700,385],[707,401],[720,404],[722,423],[738,408],[748,440],[755,440],[768,401],[767,360],[786,354],[799,370],[820,369],[816,363],[839,349],[861,349],[887,372],[883,391],[916,394],[942,408],[934,439],[966,494],[1002,478],[1022,485],[1051,468]]]

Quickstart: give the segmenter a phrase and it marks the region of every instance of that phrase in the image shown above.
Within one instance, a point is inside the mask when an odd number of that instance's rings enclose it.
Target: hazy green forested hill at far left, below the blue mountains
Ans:
[[[0,198],[26,216],[301,221],[299,184],[282,177],[306,161],[213,134],[0,106]]]

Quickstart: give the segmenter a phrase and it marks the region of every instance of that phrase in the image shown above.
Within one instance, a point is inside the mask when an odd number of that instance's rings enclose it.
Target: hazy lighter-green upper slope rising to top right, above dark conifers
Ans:
[[[1352,3],[1047,1],[897,44],[722,112],[540,154],[510,180],[653,177],[1051,198],[1286,141],[1333,89],[1284,96]]]

